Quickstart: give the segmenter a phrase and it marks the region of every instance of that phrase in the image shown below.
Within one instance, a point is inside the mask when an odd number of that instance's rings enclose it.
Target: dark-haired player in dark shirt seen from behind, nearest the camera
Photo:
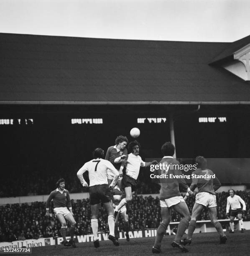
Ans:
[[[160,205],[161,205],[161,218],[162,222],[159,225],[156,233],[156,240],[152,249],[153,253],[161,252],[161,241],[171,218],[171,208],[183,216],[181,219],[177,233],[171,246],[181,249],[182,252],[188,252],[188,250],[180,244],[181,237],[183,236],[186,228],[189,225],[191,219],[189,208],[186,205],[181,193],[179,191],[179,186],[183,187],[185,191],[188,191],[190,195],[193,194],[186,184],[185,180],[182,178],[171,178],[171,175],[181,175],[181,170],[178,169],[179,162],[173,159],[173,154],[175,147],[171,142],[166,142],[161,147],[163,153],[163,159],[158,164],[158,166],[165,166],[162,168],[155,168],[155,175],[165,174],[166,177],[160,178],[159,183],[161,184],[160,190]],[[166,166],[170,168],[166,168]],[[173,167],[171,167],[173,166]],[[170,175],[171,174],[171,175]]]

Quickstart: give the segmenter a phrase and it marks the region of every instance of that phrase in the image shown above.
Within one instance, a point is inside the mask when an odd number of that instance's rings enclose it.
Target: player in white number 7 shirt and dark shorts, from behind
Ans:
[[[89,172],[89,202],[91,207],[91,226],[94,235],[94,247],[99,247],[99,239],[97,236],[98,232],[98,212],[99,212],[99,201],[102,200],[104,207],[106,208],[108,215],[108,225],[110,235],[108,238],[118,246],[118,240],[115,238],[115,220],[114,220],[114,209],[111,200],[110,189],[112,189],[119,177],[119,172],[115,167],[105,159],[104,150],[102,148],[96,148],[93,152],[93,160],[87,162],[77,172],[77,177],[82,183],[83,187],[88,187],[87,182],[84,180],[84,172]],[[113,180],[108,186],[107,182],[107,170],[110,170],[113,174]]]

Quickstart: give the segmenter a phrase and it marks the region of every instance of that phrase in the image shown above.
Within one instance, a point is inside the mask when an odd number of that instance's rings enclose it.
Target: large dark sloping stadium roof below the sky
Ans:
[[[0,33],[0,103],[250,104],[250,82],[211,64],[249,43]]]

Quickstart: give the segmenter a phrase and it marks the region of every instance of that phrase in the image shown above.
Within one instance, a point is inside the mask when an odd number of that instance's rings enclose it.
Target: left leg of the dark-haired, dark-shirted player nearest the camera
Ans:
[[[168,207],[161,207],[161,218],[162,222],[157,228],[156,240],[152,249],[153,253],[161,252],[161,241],[166,233],[166,229],[168,228],[168,224],[170,222],[171,209],[169,209]]]

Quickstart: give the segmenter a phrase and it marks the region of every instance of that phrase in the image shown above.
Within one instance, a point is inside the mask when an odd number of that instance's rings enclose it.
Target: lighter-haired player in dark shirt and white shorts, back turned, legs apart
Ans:
[[[211,223],[216,228],[217,232],[220,235],[220,243],[226,243],[227,236],[224,234],[222,225],[217,220],[217,203],[215,191],[221,186],[219,179],[215,177],[214,173],[207,169],[207,160],[203,156],[197,156],[195,159],[196,169],[193,174],[196,175],[196,178],[192,178],[192,184],[190,189],[194,191],[198,187],[198,192],[195,197],[195,203],[192,210],[191,221],[189,223],[188,236],[187,239],[182,240],[181,242],[185,244],[190,244],[192,241],[192,235],[196,228],[196,220],[199,217],[202,210],[207,207],[209,218]],[[186,195],[184,199],[186,200]]]

